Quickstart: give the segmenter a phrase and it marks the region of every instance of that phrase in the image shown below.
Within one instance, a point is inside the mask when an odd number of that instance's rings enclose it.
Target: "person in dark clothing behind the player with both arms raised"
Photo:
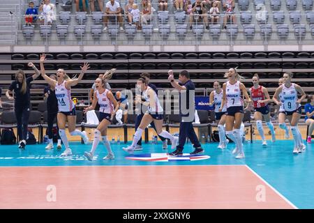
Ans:
[[[56,75],[50,75],[51,79],[57,81]],[[58,101],[55,93],[55,89],[53,86],[46,86],[44,89],[45,98],[47,98],[47,133],[49,138],[49,144],[46,146],[46,149],[54,148],[53,144],[53,132],[52,129],[54,128],[54,119],[57,120],[58,114]],[[61,138],[59,135],[59,128],[57,124],[57,137],[58,137],[58,144],[57,149],[61,149]]]

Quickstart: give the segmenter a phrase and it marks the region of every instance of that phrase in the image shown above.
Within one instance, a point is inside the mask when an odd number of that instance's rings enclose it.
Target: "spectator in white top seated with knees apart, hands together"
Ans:
[[[120,30],[124,30],[123,24],[123,17],[122,17],[122,10],[118,1],[110,0],[106,3],[105,9],[105,28],[104,31],[107,30],[108,20],[118,20],[120,24]]]

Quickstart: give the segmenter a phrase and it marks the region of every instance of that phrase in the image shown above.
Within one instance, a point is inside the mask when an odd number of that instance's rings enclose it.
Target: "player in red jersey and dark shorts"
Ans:
[[[253,100],[254,107],[254,119],[256,121],[257,130],[262,137],[262,146],[267,146],[267,141],[265,140],[264,129],[262,125],[262,118],[266,122],[269,130],[271,131],[271,141],[276,141],[276,134],[274,130],[274,125],[271,123],[269,106],[267,105],[271,102],[269,93],[264,86],[260,86],[260,77],[255,74],[252,78],[253,86],[249,89],[251,99]]]

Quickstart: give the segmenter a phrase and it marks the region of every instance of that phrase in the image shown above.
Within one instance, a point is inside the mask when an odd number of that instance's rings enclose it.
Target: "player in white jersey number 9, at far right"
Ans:
[[[285,72],[283,74],[283,84],[276,89],[273,100],[277,105],[281,105],[282,102],[278,101],[277,98],[280,93],[283,93],[283,108],[285,109],[285,115],[291,117],[290,125],[294,139],[293,153],[301,153],[306,149],[306,146],[303,144],[298,123],[301,118],[301,101],[306,98],[306,94],[299,85],[291,83],[292,77],[292,72]],[[298,93],[301,94],[300,99],[298,99]]]

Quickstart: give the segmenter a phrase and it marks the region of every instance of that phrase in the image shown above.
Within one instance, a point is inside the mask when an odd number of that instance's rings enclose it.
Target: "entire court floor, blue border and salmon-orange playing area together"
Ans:
[[[89,162],[91,145],[70,142],[73,155],[56,148],[0,146],[1,208],[314,208],[314,151],[293,154],[292,140],[245,143],[236,160],[228,144],[202,144],[205,152],[172,160],[162,145],[143,144],[129,155],[113,144],[114,160],[103,160],[103,144]],[[63,149],[62,149],[63,151]],[[193,151],[186,144],[184,153]],[[56,185],[57,201],[45,201]],[[264,188],[265,194],[259,194]],[[75,192],[80,192],[77,196]],[[86,194],[84,194],[86,193]],[[135,202],[133,199],[137,199]]]

